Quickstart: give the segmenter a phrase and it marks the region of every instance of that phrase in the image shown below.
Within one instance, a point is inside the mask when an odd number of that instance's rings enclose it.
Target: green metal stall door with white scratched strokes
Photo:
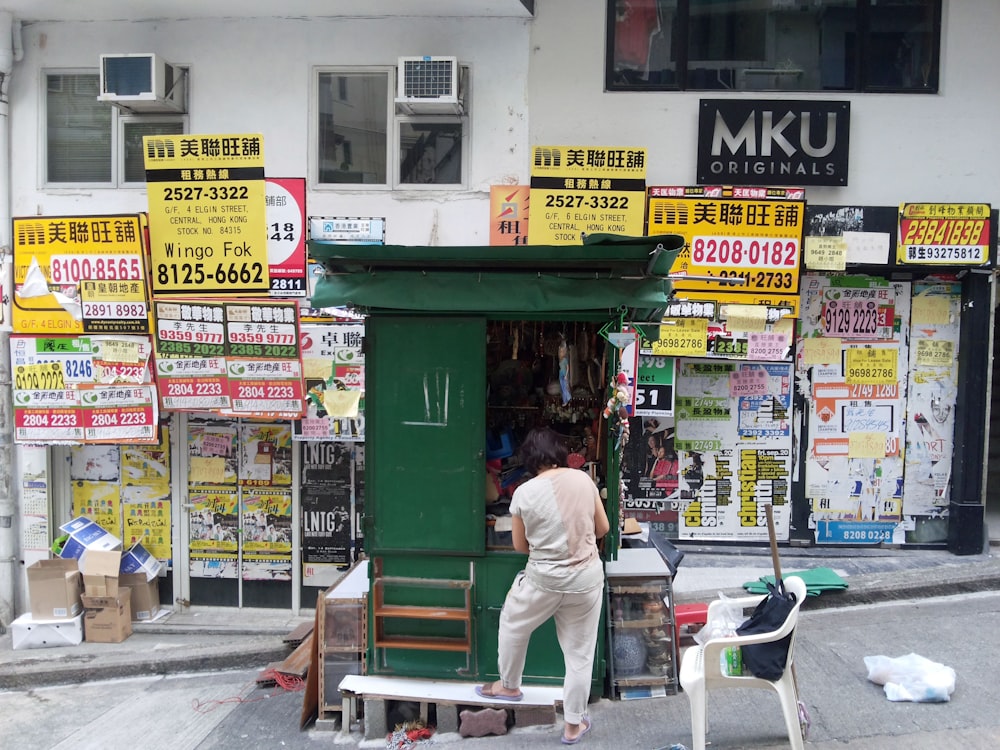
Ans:
[[[486,320],[372,316],[369,553],[485,551]]]

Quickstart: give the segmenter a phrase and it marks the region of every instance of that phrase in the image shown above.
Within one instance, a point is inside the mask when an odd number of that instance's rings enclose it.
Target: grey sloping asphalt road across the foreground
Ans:
[[[889,701],[867,678],[865,656],[917,653],[952,667],[946,703]],[[921,601],[891,601],[804,610],[796,662],[800,697],[812,719],[807,748],[930,750],[1000,747],[996,655],[1000,592]],[[240,748],[384,748],[355,729],[299,730],[302,694],[259,688],[257,670],[114,680],[0,693],[0,748],[89,750],[228,750]],[[709,695],[711,750],[788,747],[777,698],[769,691]],[[590,748],[654,750],[690,746],[683,694],[645,700],[601,700],[591,706]],[[560,747],[556,726],[515,728],[506,736],[435,737],[434,746]]]

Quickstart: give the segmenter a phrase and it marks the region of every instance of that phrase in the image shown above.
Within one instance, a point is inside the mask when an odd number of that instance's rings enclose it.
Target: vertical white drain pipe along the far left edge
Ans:
[[[3,313],[0,319],[0,633],[10,625],[16,611],[19,516],[14,474],[14,409],[11,392],[10,331],[13,290],[11,253],[10,174],[10,77],[14,62],[24,56],[21,23],[0,10],[0,272],[3,273]]]

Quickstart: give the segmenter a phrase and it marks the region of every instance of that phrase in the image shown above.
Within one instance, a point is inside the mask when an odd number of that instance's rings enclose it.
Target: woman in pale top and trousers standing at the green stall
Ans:
[[[528,555],[500,613],[497,682],[476,687],[484,698],[521,700],[528,640],[555,618],[563,653],[562,742],[575,745],[590,731],[587,702],[604,593],[604,564],[597,540],[611,528],[593,480],[566,465],[562,437],[550,428],[528,433],[521,461],[533,475],[514,491],[514,549]]]

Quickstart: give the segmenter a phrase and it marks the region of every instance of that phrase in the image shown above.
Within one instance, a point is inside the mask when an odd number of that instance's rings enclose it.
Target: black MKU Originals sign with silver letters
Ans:
[[[851,104],[702,99],[698,184],[847,185]]]

